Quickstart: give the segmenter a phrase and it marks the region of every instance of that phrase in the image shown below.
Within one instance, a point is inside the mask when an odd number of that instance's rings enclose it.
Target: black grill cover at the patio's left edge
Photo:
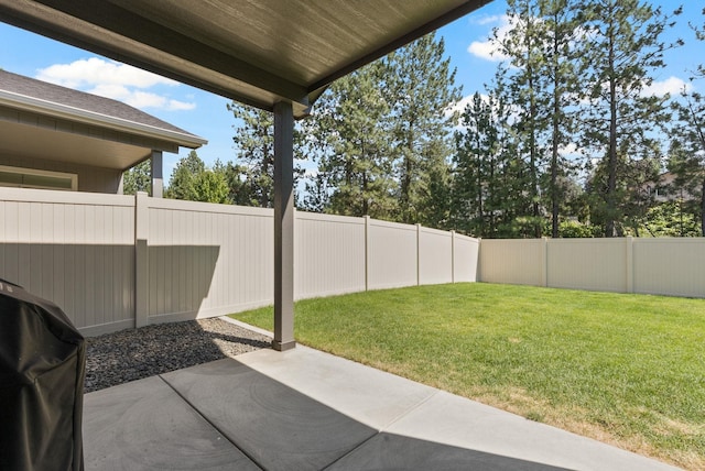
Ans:
[[[0,469],[83,470],[86,346],[53,303],[0,280]]]

